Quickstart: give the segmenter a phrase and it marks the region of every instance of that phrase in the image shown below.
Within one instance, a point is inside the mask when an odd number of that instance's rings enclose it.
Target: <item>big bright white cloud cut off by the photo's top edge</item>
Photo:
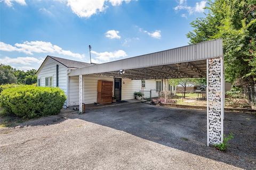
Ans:
[[[105,11],[108,7],[107,2],[113,6],[118,6],[123,2],[129,3],[130,0],[68,0],[67,5],[77,16],[90,18],[93,14]]]

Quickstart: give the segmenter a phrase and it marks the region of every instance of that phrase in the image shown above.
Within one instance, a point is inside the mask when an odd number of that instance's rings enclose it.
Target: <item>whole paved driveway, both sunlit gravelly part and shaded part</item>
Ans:
[[[255,169],[256,118],[225,114],[235,139],[206,147],[206,111],[123,103],[0,129],[3,169]],[[254,135],[253,135],[254,134]]]

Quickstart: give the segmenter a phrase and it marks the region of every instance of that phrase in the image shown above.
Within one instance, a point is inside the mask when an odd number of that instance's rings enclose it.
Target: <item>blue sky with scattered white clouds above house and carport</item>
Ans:
[[[0,0],[0,63],[38,69],[47,55],[105,63],[188,44],[205,1]]]

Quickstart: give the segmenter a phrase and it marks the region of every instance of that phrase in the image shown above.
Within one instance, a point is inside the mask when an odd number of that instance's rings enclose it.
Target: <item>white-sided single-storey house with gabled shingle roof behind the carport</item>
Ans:
[[[79,89],[78,89],[78,76],[69,77],[70,70],[78,69],[81,67],[91,66],[94,64],[77,62],[67,60],[64,58],[47,56],[45,61],[37,71],[37,84],[43,87],[59,87],[67,95],[66,106],[75,106],[79,104]],[[97,102],[97,84],[98,80],[113,81],[113,77],[99,76],[99,75],[83,75],[83,103],[92,104]],[[58,79],[58,81],[57,81]],[[142,83],[144,88],[142,89]],[[170,90],[167,80],[132,80],[122,78],[121,100],[133,99],[134,91],[143,90],[145,98],[157,97],[158,91]],[[172,88],[172,87],[171,87]],[[113,86],[114,95],[114,86]]]

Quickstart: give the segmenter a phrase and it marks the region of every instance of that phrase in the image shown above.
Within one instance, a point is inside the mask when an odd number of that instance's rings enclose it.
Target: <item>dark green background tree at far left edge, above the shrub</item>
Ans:
[[[14,75],[15,69],[10,65],[0,64],[0,85],[16,83],[17,78]]]

